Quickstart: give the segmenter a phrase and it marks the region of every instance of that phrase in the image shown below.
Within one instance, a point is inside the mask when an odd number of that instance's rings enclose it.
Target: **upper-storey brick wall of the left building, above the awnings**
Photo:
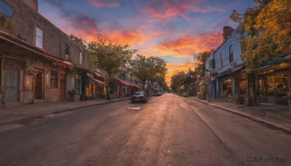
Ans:
[[[84,65],[87,65],[87,56],[81,45],[78,45],[67,34],[53,25],[44,16],[33,10],[27,3],[22,0],[3,0],[14,9],[14,24],[10,29],[3,28],[0,30],[18,38],[19,34],[26,36],[27,43],[35,45],[36,26],[44,30],[44,47],[43,49],[55,56],[65,59],[65,44],[70,46],[69,59],[79,64],[80,52],[83,53]]]

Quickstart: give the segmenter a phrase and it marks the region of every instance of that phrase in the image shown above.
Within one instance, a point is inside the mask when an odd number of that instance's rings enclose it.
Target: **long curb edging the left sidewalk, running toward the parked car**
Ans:
[[[8,124],[14,124],[14,123],[20,123],[20,122],[24,122],[24,121],[31,121],[35,118],[38,117],[43,117],[46,115],[50,115],[50,114],[57,114],[57,113],[62,113],[62,112],[66,112],[66,111],[72,111],[75,109],[81,109],[81,108],[85,108],[85,107],[89,107],[89,106],[97,106],[97,105],[105,105],[105,104],[110,104],[110,103],[114,103],[114,102],[118,102],[118,101],[123,101],[123,100],[129,100],[129,99],[120,99],[120,100],[113,100],[113,101],[106,101],[104,103],[97,103],[97,104],[91,104],[91,105],[86,105],[86,106],[77,106],[77,107],[73,107],[73,108],[59,108],[57,110],[53,110],[51,112],[45,113],[45,114],[39,114],[39,115],[35,115],[32,117],[27,117],[27,118],[21,118],[21,119],[15,119],[15,120],[8,120],[8,121],[2,121],[0,122],[0,126],[2,125],[8,125]]]

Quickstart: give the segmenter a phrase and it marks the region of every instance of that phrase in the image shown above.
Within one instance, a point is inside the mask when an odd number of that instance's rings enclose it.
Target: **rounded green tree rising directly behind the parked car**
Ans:
[[[146,82],[149,85],[149,95],[151,95],[151,86],[157,78],[164,78],[167,73],[167,61],[160,57],[151,56],[146,58],[143,55],[137,55],[134,60],[130,61],[129,69],[131,73],[143,82],[144,88]]]

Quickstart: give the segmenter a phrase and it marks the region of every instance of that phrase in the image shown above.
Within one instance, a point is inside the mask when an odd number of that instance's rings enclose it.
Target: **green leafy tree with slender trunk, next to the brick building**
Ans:
[[[118,45],[117,43],[106,44],[106,40],[98,38],[98,42],[88,44],[89,61],[107,73],[109,87],[113,90],[113,74],[117,73],[120,67],[126,65],[137,50],[128,49],[129,45]],[[107,99],[110,99],[107,91]]]

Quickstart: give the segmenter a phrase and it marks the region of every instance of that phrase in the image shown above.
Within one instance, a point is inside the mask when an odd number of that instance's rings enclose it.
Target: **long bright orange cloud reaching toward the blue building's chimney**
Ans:
[[[154,45],[151,49],[155,50],[160,56],[187,57],[215,49],[221,42],[222,32],[218,31],[212,34],[185,35],[178,39]]]

